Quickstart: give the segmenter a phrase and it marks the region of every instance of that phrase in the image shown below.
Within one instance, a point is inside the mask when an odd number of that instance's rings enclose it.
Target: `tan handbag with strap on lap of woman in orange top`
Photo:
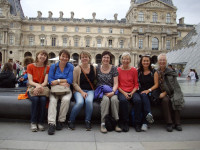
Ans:
[[[44,69],[44,76],[46,76],[46,70],[47,70],[47,66]],[[38,72],[38,76],[39,76],[39,72]],[[41,80],[42,80],[42,76],[40,78],[39,84],[41,84]],[[33,94],[34,89],[35,89],[35,86],[29,85],[28,92],[29,92],[29,94],[30,94],[31,97],[32,96],[36,96],[36,95]],[[43,92],[39,93],[37,96],[46,96],[46,97],[49,97],[49,88],[47,86],[44,86],[43,87]]]

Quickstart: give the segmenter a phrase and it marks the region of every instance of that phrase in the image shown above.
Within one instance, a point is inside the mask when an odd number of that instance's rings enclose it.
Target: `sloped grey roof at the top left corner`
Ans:
[[[21,3],[20,3],[20,0],[8,0],[8,2],[10,3],[10,13],[12,15],[17,15],[17,12],[20,12],[20,16],[21,18],[25,18],[24,17],[24,12],[22,10],[22,7],[21,7]]]

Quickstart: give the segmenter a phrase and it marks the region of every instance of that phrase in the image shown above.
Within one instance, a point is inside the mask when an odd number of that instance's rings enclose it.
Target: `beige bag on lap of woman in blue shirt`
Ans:
[[[51,93],[55,95],[65,95],[70,93],[70,87],[65,87],[62,85],[52,85],[51,86]]]

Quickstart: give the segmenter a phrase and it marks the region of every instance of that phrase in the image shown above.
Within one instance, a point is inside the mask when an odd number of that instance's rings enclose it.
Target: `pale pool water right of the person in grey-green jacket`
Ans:
[[[185,78],[178,78],[178,82],[184,94],[200,94],[199,80],[187,80]]]

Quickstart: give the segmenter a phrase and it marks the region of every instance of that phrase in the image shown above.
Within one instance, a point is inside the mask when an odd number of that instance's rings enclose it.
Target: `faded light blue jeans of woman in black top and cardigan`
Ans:
[[[92,112],[93,112],[94,91],[93,90],[91,90],[91,91],[83,90],[83,91],[88,94],[88,96],[85,98],[85,100],[82,97],[81,93],[79,93],[79,92],[74,93],[74,98],[75,98],[76,104],[72,108],[70,118],[69,118],[69,120],[72,122],[75,121],[76,116],[78,115],[78,113],[80,112],[81,108],[84,105],[84,102],[85,102],[85,115],[86,115],[85,121],[91,120]]]

